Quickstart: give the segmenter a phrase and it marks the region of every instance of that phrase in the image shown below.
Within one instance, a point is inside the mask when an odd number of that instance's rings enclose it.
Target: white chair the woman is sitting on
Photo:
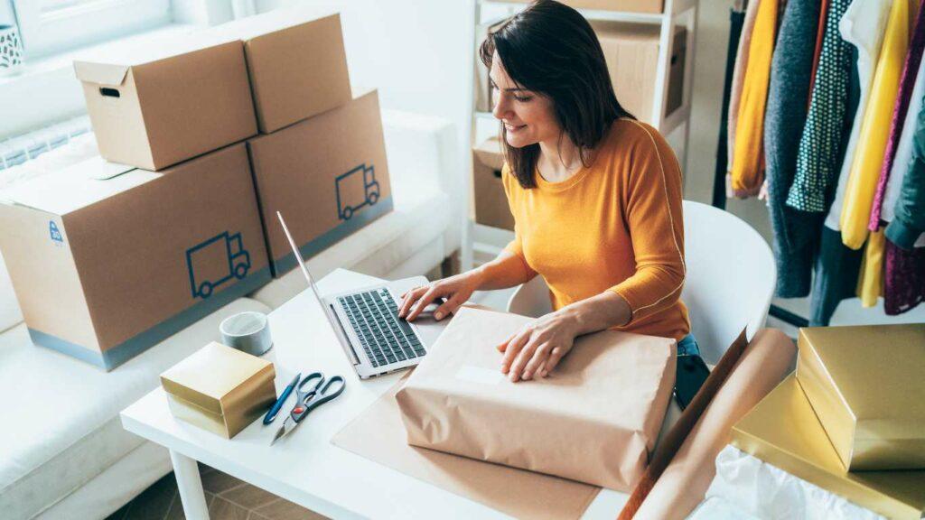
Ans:
[[[685,201],[684,211],[687,275],[681,299],[700,353],[715,365],[743,327],[749,339],[764,327],[777,267],[768,242],[739,217],[692,201]],[[549,313],[546,280],[536,277],[520,286],[507,308],[523,316]]]

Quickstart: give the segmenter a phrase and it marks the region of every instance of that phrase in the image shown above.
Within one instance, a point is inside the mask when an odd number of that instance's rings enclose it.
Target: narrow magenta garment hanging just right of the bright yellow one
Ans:
[[[877,181],[877,192],[873,195],[873,207],[870,208],[870,221],[868,229],[876,231],[880,228],[880,216],[883,209],[883,198],[886,194],[886,181],[890,179],[890,170],[896,157],[896,145],[899,144],[899,134],[902,133],[906,123],[906,114],[909,110],[909,100],[916,86],[916,76],[922,59],[922,50],[925,49],[925,0],[919,0],[919,15],[916,17],[915,28],[912,30],[912,41],[909,42],[909,52],[906,55],[906,64],[903,66],[903,75],[899,79],[899,93],[896,95],[896,105],[893,108],[893,121],[890,123],[890,137],[886,142],[886,152],[883,154],[883,165],[880,168],[880,179]]]

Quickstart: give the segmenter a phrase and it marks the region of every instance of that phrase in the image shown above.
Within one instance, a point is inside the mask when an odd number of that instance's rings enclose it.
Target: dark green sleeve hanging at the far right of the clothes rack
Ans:
[[[912,249],[925,232],[925,108],[916,121],[912,158],[896,201],[895,217],[885,232],[886,238],[903,249]]]

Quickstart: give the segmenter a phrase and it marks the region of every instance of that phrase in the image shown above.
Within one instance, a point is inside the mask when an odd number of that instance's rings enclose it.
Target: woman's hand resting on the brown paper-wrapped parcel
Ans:
[[[572,316],[561,311],[536,318],[498,345],[504,353],[501,372],[513,382],[545,378],[572,350],[578,328]]]

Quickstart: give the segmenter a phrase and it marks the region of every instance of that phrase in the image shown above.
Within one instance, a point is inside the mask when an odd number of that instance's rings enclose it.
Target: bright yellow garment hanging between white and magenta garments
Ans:
[[[860,249],[868,236],[870,208],[880,179],[890,121],[893,119],[899,80],[915,19],[916,4],[913,0],[894,0],[845,187],[841,218],[842,241],[851,249]]]

